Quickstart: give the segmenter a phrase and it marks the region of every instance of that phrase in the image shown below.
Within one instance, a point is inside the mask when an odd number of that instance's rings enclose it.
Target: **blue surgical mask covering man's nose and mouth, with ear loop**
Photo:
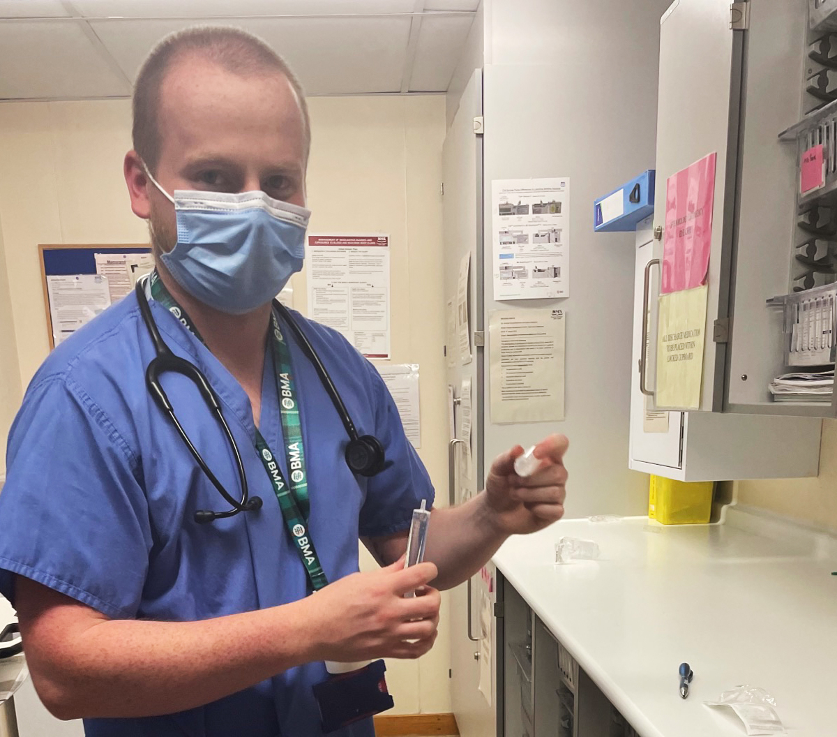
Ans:
[[[177,245],[160,256],[189,294],[221,312],[240,315],[272,300],[302,269],[311,211],[264,192],[176,189]]]

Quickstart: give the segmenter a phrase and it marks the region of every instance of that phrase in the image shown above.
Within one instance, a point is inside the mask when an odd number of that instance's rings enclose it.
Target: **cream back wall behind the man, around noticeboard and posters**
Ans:
[[[315,98],[311,124],[311,230],[391,236],[393,362],[419,363],[419,453],[444,503],[444,96]],[[39,243],[147,242],[121,173],[130,126],[129,101],[0,104],[0,345],[16,345],[18,353],[0,355],[3,446],[6,415],[49,349]],[[304,312],[305,275],[295,276],[293,286]],[[362,565],[372,565],[368,556]],[[398,712],[450,710],[444,624],[428,656],[388,667]]]

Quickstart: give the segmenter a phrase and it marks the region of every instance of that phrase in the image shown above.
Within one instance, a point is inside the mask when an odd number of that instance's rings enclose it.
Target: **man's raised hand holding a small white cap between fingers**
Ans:
[[[502,533],[534,533],[563,517],[567,495],[563,457],[568,445],[563,435],[549,435],[538,443],[534,456],[541,464],[529,477],[515,473],[515,460],[524,452],[521,446],[495,459],[485,479],[485,502]]]

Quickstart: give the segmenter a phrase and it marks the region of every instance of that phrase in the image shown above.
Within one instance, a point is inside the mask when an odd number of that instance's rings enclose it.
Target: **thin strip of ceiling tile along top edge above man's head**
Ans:
[[[443,0],[444,2],[444,0]],[[465,0],[460,0],[465,2]],[[87,18],[411,13],[414,0],[74,0]]]

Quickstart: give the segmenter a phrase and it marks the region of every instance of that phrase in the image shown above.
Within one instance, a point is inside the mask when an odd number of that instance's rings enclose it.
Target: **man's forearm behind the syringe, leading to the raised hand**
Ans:
[[[450,589],[474,575],[508,535],[496,526],[485,492],[458,507],[436,508],[430,515],[424,559],[436,564],[437,589]]]

